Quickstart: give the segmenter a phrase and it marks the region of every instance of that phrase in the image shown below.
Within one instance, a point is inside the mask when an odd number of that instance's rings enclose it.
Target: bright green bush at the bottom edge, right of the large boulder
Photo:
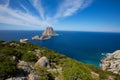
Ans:
[[[82,64],[70,62],[67,64],[70,66],[66,66],[63,71],[64,80],[94,80],[88,68]]]

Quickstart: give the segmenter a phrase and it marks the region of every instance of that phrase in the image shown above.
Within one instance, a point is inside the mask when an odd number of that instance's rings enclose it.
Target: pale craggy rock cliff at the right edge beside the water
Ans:
[[[102,60],[101,68],[120,75],[120,50],[105,57]]]

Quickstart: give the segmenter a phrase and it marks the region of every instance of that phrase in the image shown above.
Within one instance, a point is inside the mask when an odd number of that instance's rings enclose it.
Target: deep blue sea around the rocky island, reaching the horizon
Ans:
[[[27,38],[30,42],[56,50],[73,59],[99,66],[103,55],[120,49],[120,33],[57,31],[59,36],[49,40],[32,40],[43,31],[0,31],[0,40],[19,41]]]

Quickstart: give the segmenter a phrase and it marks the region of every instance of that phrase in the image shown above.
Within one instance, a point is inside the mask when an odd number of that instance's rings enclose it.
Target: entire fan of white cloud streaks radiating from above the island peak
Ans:
[[[31,5],[38,11],[39,16],[31,14],[26,5],[20,3],[23,12],[20,9],[10,8],[10,0],[4,0],[4,4],[0,4],[0,23],[23,25],[23,26],[48,26],[58,21],[59,18],[68,17],[75,14],[78,10],[84,9],[90,5],[92,0],[64,0],[60,3],[57,13],[53,17],[45,15],[42,0],[29,0]]]

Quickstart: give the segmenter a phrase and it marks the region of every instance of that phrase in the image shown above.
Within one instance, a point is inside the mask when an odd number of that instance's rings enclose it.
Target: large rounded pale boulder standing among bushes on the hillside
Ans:
[[[36,63],[35,66],[49,67],[49,60],[47,57],[41,57]]]

